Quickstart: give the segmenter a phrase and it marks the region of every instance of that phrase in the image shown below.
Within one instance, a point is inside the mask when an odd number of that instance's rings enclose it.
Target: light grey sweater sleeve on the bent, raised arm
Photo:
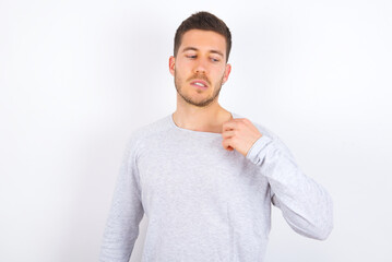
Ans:
[[[277,138],[262,135],[246,156],[268,178],[272,203],[298,234],[319,240],[333,228],[333,203],[326,190],[297,166],[287,146]]]

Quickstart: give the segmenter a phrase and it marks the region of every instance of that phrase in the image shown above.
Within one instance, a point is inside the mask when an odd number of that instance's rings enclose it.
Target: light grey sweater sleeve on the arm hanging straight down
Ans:
[[[130,139],[106,222],[99,261],[128,262],[139,236],[139,224],[144,210],[136,166],[136,142]]]

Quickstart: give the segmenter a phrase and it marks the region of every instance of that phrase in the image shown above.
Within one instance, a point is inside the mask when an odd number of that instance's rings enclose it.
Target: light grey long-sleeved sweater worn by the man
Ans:
[[[242,118],[231,112],[234,118]],[[332,199],[270,130],[245,157],[222,134],[182,129],[171,114],[129,139],[104,233],[100,261],[128,262],[143,214],[143,262],[263,261],[271,203],[298,234],[323,240]]]

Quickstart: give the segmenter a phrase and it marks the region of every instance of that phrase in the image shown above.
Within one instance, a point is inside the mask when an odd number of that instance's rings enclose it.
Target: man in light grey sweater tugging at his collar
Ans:
[[[199,12],[176,32],[169,70],[177,110],[128,143],[100,261],[129,261],[149,218],[142,261],[263,261],[271,203],[309,238],[332,230],[332,200],[271,131],[218,104],[230,32]]]

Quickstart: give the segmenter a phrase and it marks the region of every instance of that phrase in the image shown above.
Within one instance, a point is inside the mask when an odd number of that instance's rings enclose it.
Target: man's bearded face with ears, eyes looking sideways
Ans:
[[[191,29],[183,34],[177,57],[169,59],[177,93],[188,104],[205,107],[217,99],[230,73],[226,63],[226,39],[213,31]],[[200,80],[206,87],[199,86]]]

